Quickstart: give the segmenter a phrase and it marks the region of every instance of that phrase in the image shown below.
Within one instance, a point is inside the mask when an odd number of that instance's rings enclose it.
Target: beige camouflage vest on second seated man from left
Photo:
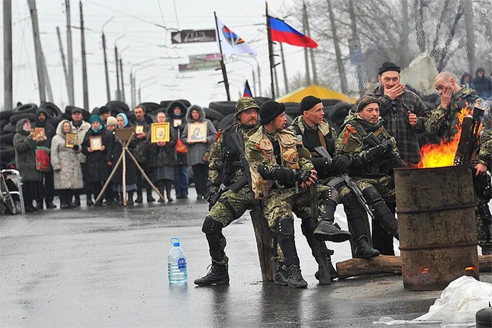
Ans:
[[[297,137],[294,132],[290,130],[281,130],[277,132],[278,144],[280,145],[280,153],[282,167],[289,169],[299,169],[299,154],[296,150]],[[258,149],[263,155],[275,165],[277,161],[275,160],[275,155],[273,153],[272,141],[267,135],[263,133],[263,129],[258,129],[256,133],[251,135],[250,141],[254,142],[255,148]],[[277,181],[265,180],[261,175],[250,166],[251,179],[252,179],[252,189],[255,193],[255,199],[265,199],[270,193],[273,183],[276,183],[279,189],[282,189]]]

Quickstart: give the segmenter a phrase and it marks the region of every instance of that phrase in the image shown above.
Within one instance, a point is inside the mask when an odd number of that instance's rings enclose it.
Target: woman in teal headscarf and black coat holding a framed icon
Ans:
[[[87,180],[90,182],[92,193],[97,198],[97,195],[99,195],[104,183],[108,179],[108,165],[111,163],[113,135],[103,127],[103,121],[98,115],[92,115],[89,123],[91,124],[91,128],[87,131],[82,142],[82,153],[86,155],[85,174]],[[106,202],[111,204],[111,195],[106,193],[105,196]],[[94,206],[102,205],[103,202],[101,199],[94,203]]]

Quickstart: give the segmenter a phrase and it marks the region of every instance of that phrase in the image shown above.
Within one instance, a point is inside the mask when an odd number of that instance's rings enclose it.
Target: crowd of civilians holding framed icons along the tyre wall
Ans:
[[[125,197],[127,205],[141,203],[144,201],[144,189],[147,202],[154,202],[152,187],[140,168],[163,196],[158,197],[158,202],[174,200],[172,185],[175,198],[188,198],[189,167],[193,170],[196,198],[206,198],[208,154],[217,131],[212,122],[205,118],[201,107],[193,105],[187,108],[180,101],[174,101],[168,108],[151,114],[139,105],[130,117],[125,113],[114,117],[110,109],[103,106],[99,108],[99,115],[92,115],[88,122],[83,119],[82,110],[74,108],[72,120],[61,120],[57,127],[48,124],[47,117],[46,110],[40,108],[36,111],[35,121],[20,119],[16,124],[13,140],[15,166],[22,176],[26,212],[42,210],[44,206],[56,208],[53,203],[55,191],[59,195],[60,209],[79,207],[81,193],[86,194],[87,206],[123,204]],[[151,125],[154,122],[169,122],[169,141],[151,142]],[[196,142],[188,135],[187,125],[194,122],[206,124],[207,136],[204,140]],[[125,175],[123,166],[119,165],[103,195],[97,200],[124,151],[115,130],[134,126],[143,126],[144,131],[135,134],[128,145],[131,154],[125,151]],[[44,128],[43,138],[33,137],[31,131],[36,127]],[[74,145],[67,145],[67,133],[76,134],[77,142]],[[91,148],[92,137],[100,137],[101,145],[97,149]],[[40,171],[36,167],[36,161],[39,161],[39,158],[36,159],[38,146],[50,150],[49,170]],[[123,176],[127,195],[123,194]]]

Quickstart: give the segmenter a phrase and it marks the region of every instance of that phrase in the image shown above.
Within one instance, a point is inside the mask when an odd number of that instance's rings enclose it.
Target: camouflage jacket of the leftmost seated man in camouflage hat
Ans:
[[[236,122],[224,129],[224,131],[219,130],[217,132],[216,141],[212,144],[210,150],[209,179],[212,189],[216,191],[221,183],[226,186],[232,185],[244,175],[239,163],[236,163],[240,160],[240,156],[244,154],[236,154],[230,150],[229,148],[234,148],[235,145],[228,146],[227,144],[230,144],[232,140],[224,140],[224,138],[228,137],[230,133],[241,132],[245,144],[248,136],[257,129],[258,126],[250,128]],[[224,145],[224,141],[226,141],[226,145]]]

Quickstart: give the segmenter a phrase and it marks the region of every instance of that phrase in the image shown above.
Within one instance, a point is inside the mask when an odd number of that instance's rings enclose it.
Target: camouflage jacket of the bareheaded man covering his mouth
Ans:
[[[430,114],[425,122],[425,129],[429,134],[443,138],[446,141],[453,139],[458,132],[458,113],[466,106],[473,108],[474,103],[480,99],[475,90],[463,87],[453,94],[449,108],[442,108],[441,105]],[[482,118],[483,128],[480,140],[480,149],[475,161],[485,164],[492,154],[492,118],[487,110]]]

